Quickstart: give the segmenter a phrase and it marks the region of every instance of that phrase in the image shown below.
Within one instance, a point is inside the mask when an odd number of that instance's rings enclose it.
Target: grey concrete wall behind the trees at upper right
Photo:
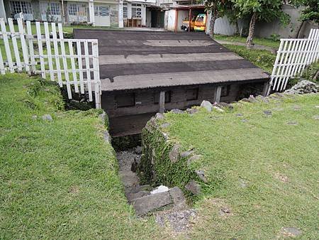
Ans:
[[[255,36],[269,38],[272,34],[279,34],[281,38],[297,38],[298,30],[301,26],[301,21],[298,21],[302,9],[296,9],[290,5],[284,5],[283,11],[291,16],[289,26],[282,26],[279,20],[271,23],[257,22],[254,30]],[[318,28],[314,23],[306,23],[301,32],[301,38],[308,37],[310,28]]]

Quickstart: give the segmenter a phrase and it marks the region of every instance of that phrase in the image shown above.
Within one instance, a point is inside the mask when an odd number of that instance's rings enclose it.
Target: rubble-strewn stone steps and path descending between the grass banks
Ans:
[[[167,227],[168,224],[175,232],[189,229],[196,212],[187,206],[179,187],[140,185],[137,170],[142,157],[142,147],[118,151],[116,157],[120,166],[119,175],[125,187],[125,196],[128,203],[133,205],[136,214],[139,216],[155,214],[157,224],[162,227]]]

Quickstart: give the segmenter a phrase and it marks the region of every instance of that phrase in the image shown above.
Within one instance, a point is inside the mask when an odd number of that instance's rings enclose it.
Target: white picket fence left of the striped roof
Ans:
[[[96,39],[67,39],[63,37],[62,24],[35,23],[33,33],[30,21],[18,18],[18,32],[12,18],[8,18],[7,28],[4,18],[0,18],[0,38],[4,43],[4,53],[0,48],[0,72],[22,72],[40,74],[43,78],[67,87],[69,99],[74,92],[88,93],[89,101],[94,100],[96,108],[101,108],[101,81],[99,76],[99,48]],[[50,31],[51,27],[51,31]],[[9,31],[8,31],[9,29]],[[13,52],[13,54],[12,54]]]

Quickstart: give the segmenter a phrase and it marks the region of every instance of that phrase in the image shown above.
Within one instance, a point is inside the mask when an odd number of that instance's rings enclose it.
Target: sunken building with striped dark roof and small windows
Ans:
[[[140,133],[159,111],[262,94],[269,75],[205,33],[74,29],[99,40],[101,106],[112,136]]]

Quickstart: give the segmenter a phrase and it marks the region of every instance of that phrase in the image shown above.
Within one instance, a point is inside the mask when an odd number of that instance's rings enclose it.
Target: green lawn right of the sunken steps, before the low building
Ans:
[[[276,239],[283,227],[319,239],[318,104],[319,94],[310,94],[239,103],[223,113],[165,114],[159,125],[168,122],[169,139],[202,156],[191,168],[208,179],[190,239]],[[230,213],[221,215],[222,208]]]

